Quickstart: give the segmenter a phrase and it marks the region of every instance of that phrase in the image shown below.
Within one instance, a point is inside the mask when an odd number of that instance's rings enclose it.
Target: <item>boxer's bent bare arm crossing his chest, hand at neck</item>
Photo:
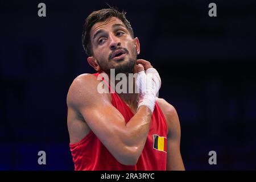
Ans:
[[[135,165],[144,148],[151,110],[139,107],[128,123],[112,105],[109,95],[98,93],[100,81],[93,75],[77,77],[69,88],[67,105],[81,113],[87,125],[109,152],[125,165]]]

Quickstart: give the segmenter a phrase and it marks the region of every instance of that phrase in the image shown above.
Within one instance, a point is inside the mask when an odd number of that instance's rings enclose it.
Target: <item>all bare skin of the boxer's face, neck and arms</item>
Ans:
[[[116,24],[123,26],[113,26]],[[102,33],[93,38],[98,31]],[[97,72],[108,74],[110,68],[126,67],[133,61],[133,73],[152,67],[149,61],[137,60],[140,53],[139,39],[133,39],[118,18],[112,17],[94,24],[90,31],[90,40],[93,56],[88,57],[88,63]],[[118,47],[127,49],[124,59],[109,59]],[[70,142],[79,142],[92,130],[119,163],[135,165],[147,139],[151,110],[147,106],[137,109],[138,94],[119,94],[134,113],[133,118],[126,123],[123,115],[112,105],[110,93],[97,92],[99,83],[95,76],[82,74],[75,78],[69,88],[67,122]],[[177,112],[174,106],[163,99],[158,98],[156,102],[162,109],[168,126],[167,170],[184,170],[180,155],[180,123]]]

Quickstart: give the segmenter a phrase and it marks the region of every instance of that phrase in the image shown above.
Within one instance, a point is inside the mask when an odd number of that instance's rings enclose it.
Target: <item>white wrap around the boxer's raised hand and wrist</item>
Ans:
[[[155,107],[156,94],[161,86],[161,79],[155,68],[148,68],[146,73],[138,73],[136,84],[139,90],[139,104],[147,106],[153,113]]]

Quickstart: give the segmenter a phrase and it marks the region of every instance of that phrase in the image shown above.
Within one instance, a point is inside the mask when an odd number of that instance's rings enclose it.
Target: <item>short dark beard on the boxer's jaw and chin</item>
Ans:
[[[126,48],[122,49],[125,50],[128,56],[130,55],[129,51]],[[114,61],[111,59],[111,55],[112,54],[110,54],[109,56],[109,60],[107,62],[108,64],[106,64],[106,61],[98,61],[101,71],[104,71],[108,75],[110,75],[110,69],[115,69],[115,75],[117,75],[118,73],[124,73],[126,76],[128,76],[129,73],[134,73],[134,68],[137,61],[137,49],[135,47],[132,50],[131,55],[127,61],[125,59]]]

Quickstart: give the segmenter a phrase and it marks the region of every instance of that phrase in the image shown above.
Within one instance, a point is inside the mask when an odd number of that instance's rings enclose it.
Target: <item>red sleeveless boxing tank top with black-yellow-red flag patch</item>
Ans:
[[[93,75],[98,76],[99,73],[94,73]],[[123,115],[126,123],[129,122],[134,115],[130,107],[121,100],[117,93],[110,94],[113,106]],[[166,119],[156,103],[144,149],[137,164],[134,166],[126,166],[119,163],[93,131],[90,131],[80,142],[70,143],[69,147],[71,148],[73,162],[75,163],[75,170],[166,170]]]

